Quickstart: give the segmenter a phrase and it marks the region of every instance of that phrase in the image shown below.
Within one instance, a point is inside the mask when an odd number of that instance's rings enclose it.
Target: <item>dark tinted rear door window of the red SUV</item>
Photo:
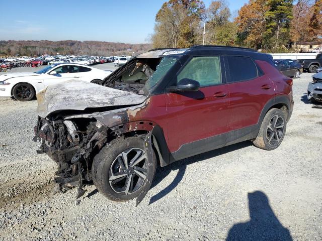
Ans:
[[[257,67],[249,57],[227,56],[230,82],[245,81],[258,76]]]

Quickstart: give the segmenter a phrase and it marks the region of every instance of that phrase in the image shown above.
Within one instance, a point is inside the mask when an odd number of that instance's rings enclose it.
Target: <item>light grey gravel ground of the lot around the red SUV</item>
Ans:
[[[31,141],[36,101],[0,98],[0,239],[321,240],[322,109],[307,103],[310,76],[294,80],[278,149],[243,142],[159,168],[138,207],[95,186],[79,203],[75,189],[53,194],[56,164]]]

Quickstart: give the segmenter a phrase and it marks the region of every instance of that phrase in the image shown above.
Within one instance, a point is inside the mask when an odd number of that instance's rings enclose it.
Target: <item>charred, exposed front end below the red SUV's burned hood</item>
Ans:
[[[53,120],[39,116],[33,141],[39,142],[37,153],[45,153],[57,163],[55,182],[61,188],[72,185],[81,189],[92,181],[91,160],[108,136],[108,128],[95,118]]]

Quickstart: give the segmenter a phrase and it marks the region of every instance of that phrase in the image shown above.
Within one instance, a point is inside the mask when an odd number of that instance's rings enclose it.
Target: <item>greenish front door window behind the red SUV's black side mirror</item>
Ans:
[[[188,78],[200,83],[200,87],[221,84],[221,68],[218,56],[193,57],[178,74],[177,81]]]

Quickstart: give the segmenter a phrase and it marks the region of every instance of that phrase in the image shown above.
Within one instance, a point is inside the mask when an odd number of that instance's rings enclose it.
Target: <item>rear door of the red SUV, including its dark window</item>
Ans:
[[[227,144],[232,144],[254,131],[275,91],[273,82],[250,57],[225,56],[225,60],[230,93]]]

